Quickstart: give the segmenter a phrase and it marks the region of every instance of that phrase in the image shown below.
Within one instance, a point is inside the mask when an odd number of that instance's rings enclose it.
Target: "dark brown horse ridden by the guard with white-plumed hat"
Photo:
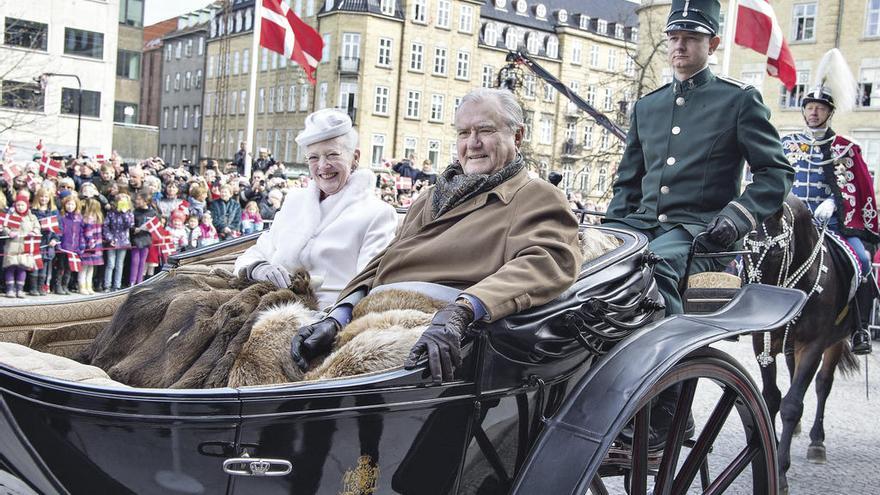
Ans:
[[[853,325],[859,324],[857,311],[849,301],[852,268],[847,266],[845,256],[832,251],[837,249],[832,242],[813,223],[809,208],[793,195],[764,220],[754,237],[744,241],[750,251],[743,256],[747,283],[794,287],[808,295],[807,304],[795,321],[752,336],[770,418],[774,424],[777,412],[782,418],[778,446],[781,493],[788,493],[786,472],[791,466],[791,439],[800,427],[804,395],[814,375],[817,405],[807,459],[824,464],[825,401],[834,383],[834,371],[839,368],[848,375],[859,367],[849,340]],[[791,378],[785,397],[776,385],[774,357],[780,352],[785,354]]]

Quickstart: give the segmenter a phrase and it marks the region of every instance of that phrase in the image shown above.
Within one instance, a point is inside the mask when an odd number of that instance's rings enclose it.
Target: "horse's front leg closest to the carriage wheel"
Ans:
[[[813,381],[823,350],[821,341],[806,344],[798,342],[795,346],[794,378],[779,409],[782,417],[782,435],[779,439],[779,482],[782,488],[788,488],[785,474],[791,467],[791,437],[795,425],[804,413],[804,394]]]

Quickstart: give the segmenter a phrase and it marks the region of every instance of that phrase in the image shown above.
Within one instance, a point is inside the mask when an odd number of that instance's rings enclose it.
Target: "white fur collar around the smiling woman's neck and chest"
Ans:
[[[283,229],[279,235],[285,239],[272,255],[272,262],[288,270],[302,266],[300,255],[306,244],[333,223],[346,208],[373,193],[376,176],[367,169],[355,170],[338,193],[320,201],[321,191],[312,180],[304,189],[294,189],[287,194],[281,210],[275,216],[272,228]]]

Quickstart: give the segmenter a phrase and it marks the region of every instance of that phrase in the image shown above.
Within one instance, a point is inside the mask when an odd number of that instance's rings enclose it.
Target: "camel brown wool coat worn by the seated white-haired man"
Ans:
[[[577,278],[578,222],[565,195],[525,168],[432,220],[432,187],[397,236],[343,289],[434,282],[476,297],[495,321],[544,304]]]

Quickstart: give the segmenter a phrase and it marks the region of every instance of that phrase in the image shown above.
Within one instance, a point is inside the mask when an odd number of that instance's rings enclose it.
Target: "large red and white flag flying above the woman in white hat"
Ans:
[[[262,0],[262,4],[260,45],[298,63],[315,84],[315,69],[324,50],[321,35],[297,17],[286,0]]]

